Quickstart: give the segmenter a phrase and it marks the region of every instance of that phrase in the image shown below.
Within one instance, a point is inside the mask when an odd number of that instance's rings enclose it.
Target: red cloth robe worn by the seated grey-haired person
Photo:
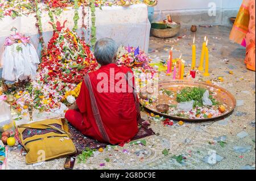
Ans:
[[[133,92],[117,92],[113,89],[113,85],[119,86],[118,82],[121,77],[126,81],[124,75],[128,71],[132,73],[131,69],[125,66],[118,67],[116,64],[108,64],[101,66],[97,71],[89,73],[98,110],[100,111],[106,133],[109,136],[110,144],[127,142],[138,132],[137,111]],[[108,79],[102,78],[102,73],[105,73]],[[104,83],[106,83],[105,87],[103,86]],[[98,88],[101,87],[101,90],[105,88],[106,92],[99,92],[97,86]],[[126,90],[128,90],[128,87],[129,85],[126,82]],[[82,134],[104,142],[94,120],[89,91],[84,81],[82,82],[76,103],[80,112],[69,110],[65,114],[66,119]]]

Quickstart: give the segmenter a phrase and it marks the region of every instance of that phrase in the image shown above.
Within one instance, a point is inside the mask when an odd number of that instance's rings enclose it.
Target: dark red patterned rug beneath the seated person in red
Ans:
[[[69,132],[72,135],[72,141],[76,146],[77,153],[81,153],[82,150],[85,148],[90,148],[90,149],[99,149],[99,148],[106,148],[108,144],[104,144],[101,142],[98,142],[96,140],[93,140],[92,138],[85,137],[84,134],[81,132],[77,131],[76,128],[74,128],[71,124],[68,123],[69,127]],[[139,128],[138,134],[133,138],[132,141],[134,140],[139,140],[144,137],[148,137],[151,135],[154,135],[155,132],[152,131],[151,128],[147,127],[141,127]]]

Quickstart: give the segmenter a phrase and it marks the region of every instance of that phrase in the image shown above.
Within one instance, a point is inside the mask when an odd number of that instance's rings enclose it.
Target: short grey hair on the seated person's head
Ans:
[[[99,64],[108,65],[113,62],[117,50],[118,46],[113,39],[100,39],[94,46],[94,56]]]

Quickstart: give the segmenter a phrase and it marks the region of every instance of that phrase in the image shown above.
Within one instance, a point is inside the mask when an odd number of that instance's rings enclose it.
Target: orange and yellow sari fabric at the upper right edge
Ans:
[[[245,64],[255,71],[255,1],[243,0],[230,33],[230,40],[246,47]]]

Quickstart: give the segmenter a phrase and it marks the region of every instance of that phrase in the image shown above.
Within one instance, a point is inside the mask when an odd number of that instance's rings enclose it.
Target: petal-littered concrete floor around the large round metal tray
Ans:
[[[174,58],[182,53],[183,59],[190,64],[193,33],[189,29],[181,30],[181,39],[150,37],[149,54],[153,61],[166,59],[173,46]],[[196,33],[196,45],[198,62],[203,38],[208,37],[210,77],[199,75],[197,79],[224,78],[224,82],[218,84],[232,92],[237,99],[237,107],[232,115],[224,120],[186,122],[181,126],[175,122],[172,127],[163,127],[160,121],[152,121],[151,128],[159,136],[147,137],[146,146],[126,144],[124,147],[105,149],[103,153],[96,151],[86,163],[76,163],[75,169],[255,169],[255,72],[246,70],[243,64],[245,49],[229,41],[230,30],[230,27],[222,26],[200,27]],[[229,71],[234,74],[229,74]],[[162,73],[160,79],[164,81],[170,77]],[[142,115],[144,119],[150,118],[146,112],[142,112]],[[214,142],[221,136],[224,147]],[[162,153],[165,148],[170,149],[166,156]],[[234,149],[238,149],[238,152]],[[183,155],[185,159],[179,163],[173,158],[174,155]],[[105,158],[110,161],[106,162]],[[212,162],[210,159],[206,161],[207,158],[212,158]],[[8,159],[9,169],[63,169],[64,162],[63,158],[40,166],[25,165],[19,148],[11,150]],[[105,165],[100,166],[101,163]]]

